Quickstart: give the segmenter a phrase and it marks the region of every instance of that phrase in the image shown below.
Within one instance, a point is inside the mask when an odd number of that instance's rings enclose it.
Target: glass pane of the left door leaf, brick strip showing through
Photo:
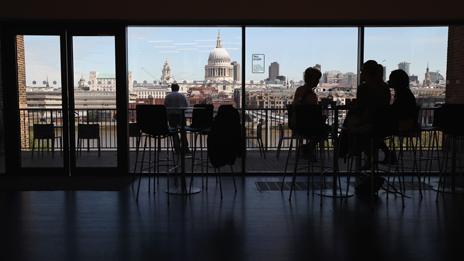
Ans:
[[[63,166],[60,37],[16,37],[23,167]]]

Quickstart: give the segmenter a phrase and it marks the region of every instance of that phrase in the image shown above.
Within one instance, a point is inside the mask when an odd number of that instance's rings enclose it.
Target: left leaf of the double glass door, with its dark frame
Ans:
[[[4,33],[7,172],[69,175],[64,31]]]

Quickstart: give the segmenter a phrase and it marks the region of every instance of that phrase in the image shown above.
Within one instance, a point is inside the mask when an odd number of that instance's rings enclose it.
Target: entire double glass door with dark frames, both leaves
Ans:
[[[7,173],[127,174],[124,50],[124,27],[5,30]]]

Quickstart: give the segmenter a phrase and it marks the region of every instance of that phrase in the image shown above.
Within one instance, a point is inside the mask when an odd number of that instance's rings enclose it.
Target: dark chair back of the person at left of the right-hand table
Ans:
[[[320,105],[296,105],[293,107],[294,131],[303,137],[320,137],[324,133],[324,116]]]

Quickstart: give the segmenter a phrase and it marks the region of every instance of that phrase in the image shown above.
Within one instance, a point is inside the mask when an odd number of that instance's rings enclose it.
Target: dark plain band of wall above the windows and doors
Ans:
[[[461,21],[457,0],[25,0],[3,1],[0,18],[130,20],[289,21],[308,23],[434,23]]]

